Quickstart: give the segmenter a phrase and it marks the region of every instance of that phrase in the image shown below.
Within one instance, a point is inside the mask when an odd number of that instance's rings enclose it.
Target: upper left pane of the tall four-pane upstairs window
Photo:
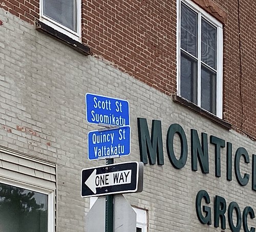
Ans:
[[[181,48],[197,57],[197,14],[181,4]]]

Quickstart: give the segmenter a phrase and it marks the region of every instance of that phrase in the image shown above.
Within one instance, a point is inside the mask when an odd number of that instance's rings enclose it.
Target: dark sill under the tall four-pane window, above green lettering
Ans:
[[[210,119],[212,122],[219,124],[223,128],[225,128],[227,130],[231,130],[231,124],[229,122],[226,122],[223,119],[220,119],[217,116],[210,114],[209,112],[207,112],[204,109],[195,105],[193,102],[188,101],[183,97],[177,96],[176,94],[173,94],[173,101],[186,107],[186,108],[189,108],[189,109],[199,113],[200,115]]]

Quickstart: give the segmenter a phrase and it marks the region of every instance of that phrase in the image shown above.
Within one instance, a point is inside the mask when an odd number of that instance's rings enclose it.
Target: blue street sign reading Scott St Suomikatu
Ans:
[[[118,98],[87,93],[86,115],[90,123],[130,125],[129,102]]]

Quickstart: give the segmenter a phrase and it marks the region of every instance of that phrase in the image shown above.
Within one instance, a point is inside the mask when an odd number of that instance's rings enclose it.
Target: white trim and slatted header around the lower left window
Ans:
[[[0,146],[0,182],[48,195],[48,232],[57,231],[56,168],[55,164],[48,161]],[[33,169],[38,170],[38,173],[31,172]],[[41,176],[41,172],[45,172],[46,176]]]

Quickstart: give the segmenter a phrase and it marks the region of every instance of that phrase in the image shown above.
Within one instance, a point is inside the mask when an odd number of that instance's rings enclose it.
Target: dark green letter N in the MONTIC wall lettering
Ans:
[[[202,147],[197,131],[191,129],[191,168],[197,171],[197,158],[203,173],[209,173],[207,134],[202,133]]]

